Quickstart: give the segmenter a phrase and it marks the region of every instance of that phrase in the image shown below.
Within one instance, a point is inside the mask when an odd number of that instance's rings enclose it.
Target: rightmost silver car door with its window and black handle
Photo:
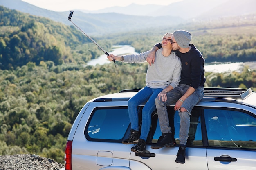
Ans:
[[[209,170],[256,170],[256,117],[239,109],[204,109]]]

